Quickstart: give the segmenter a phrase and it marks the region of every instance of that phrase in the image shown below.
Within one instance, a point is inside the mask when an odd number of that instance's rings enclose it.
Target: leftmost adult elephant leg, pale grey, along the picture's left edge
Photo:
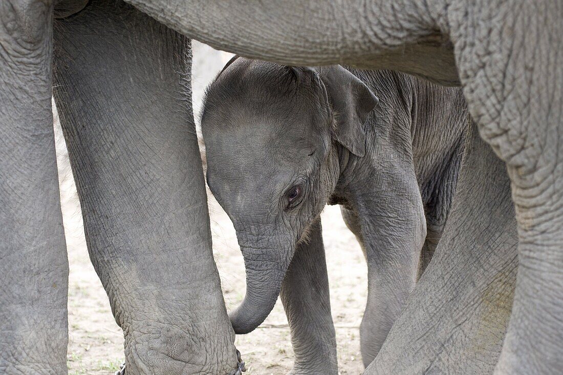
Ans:
[[[0,1],[0,373],[66,374],[52,2]]]

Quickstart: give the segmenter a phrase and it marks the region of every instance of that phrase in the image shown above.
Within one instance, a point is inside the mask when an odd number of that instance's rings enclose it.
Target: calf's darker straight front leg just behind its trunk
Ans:
[[[322,234],[318,219],[297,245],[282,284],[295,355],[292,374],[338,374]]]

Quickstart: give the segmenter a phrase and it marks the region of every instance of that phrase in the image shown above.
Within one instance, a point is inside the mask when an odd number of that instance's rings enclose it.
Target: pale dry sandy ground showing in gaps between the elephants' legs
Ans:
[[[204,87],[230,56],[226,52],[194,43],[193,96],[196,116]],[[68,155],[58,126],[55,123],[62,213],[70,263],[69,374],[113,373],[123,361],[123,333],[115,324],[108,298],[88,257]],[[230,311],[244,296],[243,259],[233,225],[209,192],[208,196],[213,253],[227,310]],[[359,374],[363,369],[359,325],[367,297],[367,268],[360,247],[343,223],[338,207],[327,206],[321,217],[340,373]],[[293,364],[293,352],[282,303],[278,300],[274,311],[261,327],[250,334],[237,336],[235,345],[247,363],[247,374],[287,373]]]

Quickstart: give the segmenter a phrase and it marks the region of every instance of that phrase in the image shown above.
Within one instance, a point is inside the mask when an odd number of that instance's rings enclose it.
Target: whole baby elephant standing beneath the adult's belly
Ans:
[[[338,373],[319,214],[340,204],[368,264],[368,365],[440,238],[466,122],[461,90],[406,74],[231,60],[202,131],[207,182],[247,268],[235,332],[260,325],[281,290],[293,373]]]

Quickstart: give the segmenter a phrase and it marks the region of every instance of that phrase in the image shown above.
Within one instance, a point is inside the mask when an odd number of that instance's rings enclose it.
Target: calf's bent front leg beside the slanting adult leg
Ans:
[[[382,158],[383,159],[383,158]],[[408,162],[381,160],[374,180],[357,184],[352,206],[368,263],[368,301],[360,325],[367,367],[405,306],[417,277],[426,219],[417,180]],[[369,187],[369,191],[364,191]],[[353,217],[353,215],[351,216]],[[354,224],[352,227],[358,227]]]

